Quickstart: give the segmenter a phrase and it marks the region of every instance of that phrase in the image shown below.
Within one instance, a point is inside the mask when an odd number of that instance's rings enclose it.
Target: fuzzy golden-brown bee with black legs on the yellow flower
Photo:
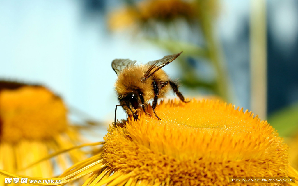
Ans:
[[[149,101],[152,99],[152,111],[160,120],[154,109],[158,99],[163,98],[170,88],[181,101],[187,102],[179,92],[178,85],[161,69],[175,60],[181,53],[167,55],[145,65],[136,64],[136,61],[129,59],[115,59],[112,62],[112,68],[117,74],[115,91],[120,103],[115,108],[115,125],[118,106],[122,106],[129,116],[133,115],[134,119],[137,120],[141,110],[151,115],[146,110]]]

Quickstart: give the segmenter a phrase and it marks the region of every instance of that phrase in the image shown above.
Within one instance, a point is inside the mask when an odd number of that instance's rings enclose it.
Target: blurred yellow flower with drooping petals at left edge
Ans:
[[[29,176],[49,177],[54,166],[86,158],[80,150],[59,155],[30,168],[32,163],[80,144],[77,128],[70,126],[62,99],[39,85],[0,81],[0,169]],[[85,141],[86,142],[86,141]],[[24,171],[20,171],[21,169]],[[4,177],[0,177],[0,186]]]

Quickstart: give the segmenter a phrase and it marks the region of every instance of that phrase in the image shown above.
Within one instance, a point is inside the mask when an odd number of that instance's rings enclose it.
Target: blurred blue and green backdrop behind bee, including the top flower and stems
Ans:
[[[0,78],[45,85],[111,123],[112,60],[183,51],[164,70],[186,97],[253,110],[297,144],[297,20],[296,0],[0,0]]]

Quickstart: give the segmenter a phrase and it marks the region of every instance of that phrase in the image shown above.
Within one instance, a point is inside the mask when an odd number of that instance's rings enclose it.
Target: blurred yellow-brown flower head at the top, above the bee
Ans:
[[[152,23],[152,21],[173,21],[176,18],[191,21],[197,15],[195,6],[194,2],[184,0],[145,0],[136,6],[128,6],[112,12],[109,27],[112,30],[122,29]]]

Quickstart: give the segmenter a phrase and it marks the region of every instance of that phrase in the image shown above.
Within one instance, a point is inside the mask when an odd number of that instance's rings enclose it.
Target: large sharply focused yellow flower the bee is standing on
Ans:
[[[100,153],[67,169],[62,183],[90,173],[83,186],[229,185],[229,177],[298,177],[289,166],[288,146],[252,112],[195,99],[162,101],[155,111],[162,120],[142,113],[137,121],[110,126]]]

